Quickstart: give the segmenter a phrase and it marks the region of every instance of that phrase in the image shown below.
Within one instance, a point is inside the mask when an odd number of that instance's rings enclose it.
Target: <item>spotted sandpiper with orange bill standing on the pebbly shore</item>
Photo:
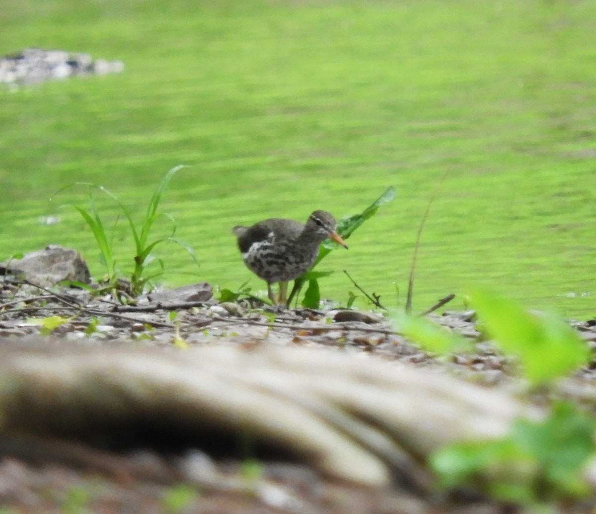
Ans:
[[[232,228],[238,238],[238,248],[244,263],[267,283],[269,299],[274,304],[287,305],[288,281],[305,273],[315,261],[319,244],[333,239],[347,249],[337,235],[335,218],[325,210],[315,210],[306,224],[293,219],[270,218],[252,227]],[[271,284],[280,283],[275,299]]]

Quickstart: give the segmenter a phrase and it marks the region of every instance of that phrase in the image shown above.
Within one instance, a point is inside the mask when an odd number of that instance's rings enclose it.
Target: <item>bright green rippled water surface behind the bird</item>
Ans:
[[[596,4],[589,0],[1,2],[0,54],[37,46],[120,59],[123,73],[0,88],[0,259],[49,243],[101,276],[69,202],[102,184],[139,219],[157,181],[176,236],[171,286],[250,278],[230,228],[396,199],[331,253],[403,302],[418,222],[415,307],[485,284],[533,308],[596,315]],[[446,174],[446,175],[445,175]],[[442,177],[445,177],[444,180]],[[442,184],[440,187],[439,185]],[[100,202],[106,219],[116,209]],[[44,225],[41,216],[60,216]],[[167,219],[156,236],[166,235]],[[120,268],[132,266],[123,220]],[[396,295],[396,287],[400,296]],[[452,305],[462,308],[461,296]],[[364,301],[356,305],[367,306]]]

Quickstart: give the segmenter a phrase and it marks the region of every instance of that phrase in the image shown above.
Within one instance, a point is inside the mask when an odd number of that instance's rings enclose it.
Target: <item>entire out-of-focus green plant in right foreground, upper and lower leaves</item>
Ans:
[[[516,302],[479,287],[468,298],[482,330],[504,354],[519,361],[529,389],[539,386],[548,392],[554,380],[588,363],[586,342],[554,314],[527,312]],[[423,318],[402,314],[396,323],[406,336],[432,352],[451,354],[470,345]],[[431,456],[430,465],[445,488],[476,484],[498,500],[554,512],[548,510],[553,501],[589,494],[583,472],[596,458],[595,432],[594,416],[572,402],[551,400],[541,419],[517,419],[502,438],[443,447]]]

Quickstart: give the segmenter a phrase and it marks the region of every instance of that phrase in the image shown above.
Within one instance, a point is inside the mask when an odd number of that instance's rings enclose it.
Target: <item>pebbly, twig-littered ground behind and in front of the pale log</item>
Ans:
[[[495,388],[514,384],[514,366],[490,342],[479,340],[473,312],[432,314],[440,325],[478,341],[474,352],[435,358],[395,332],[383,315],[345,309],[289,309],[274,314],[249,302],[148,298],[118,306],[107,298],[64,289],[2,284],[0,337],[51,333],[51,337],[104,345],[130,340],[136,348],[195,345],[299,345],[378,355],[408,366],[449,372]],[[175,312],[175,316],[171,313]],[[51,329],[41,321],[61,316]],[[59,323],[58,323],[59,322]],[[570,322],[591,348],[596,320]],[[596,361],[561,382],[559,394],[594,401]],[[590,400],[592,398],[592,400]],[[473,491],[420,494],[396,476],[387,488],[328,479],[308,466],[209,455],[202,448],[157,445],[117,451],[79,441],[22,439],[0,442],[0,512],[5,513],[337,513],[496,514],[521,512]],[[594,512],[594,506],[558,506],[560,512]]]

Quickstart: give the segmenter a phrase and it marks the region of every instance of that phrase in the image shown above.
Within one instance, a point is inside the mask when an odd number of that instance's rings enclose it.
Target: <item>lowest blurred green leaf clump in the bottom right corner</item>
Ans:
[[[503,438],[448,445],[433,454],[430,465],[442,487],[489,476],[480,483],[493,498],[535,512],[560,512],[547,505],[590,493],[582,473],[595,456],[595,428],[594,417],[571,402],[557,402],[543,420],[516,420]]]

